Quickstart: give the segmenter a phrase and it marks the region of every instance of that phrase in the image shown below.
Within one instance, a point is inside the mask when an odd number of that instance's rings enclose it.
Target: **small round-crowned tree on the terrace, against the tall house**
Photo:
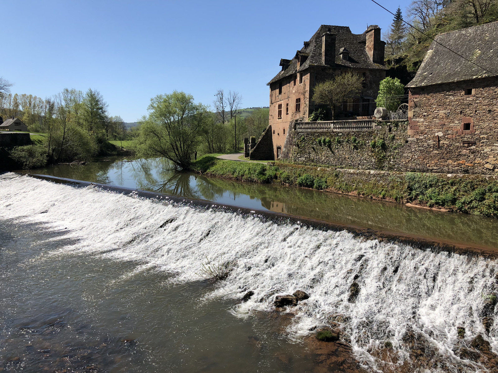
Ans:
[[[337,108],[348,98],[357,98],[363,89],[363,77],[352,71],[336,75],[331,80],[318,83],[314,88],[313,101],[326,104],[335,116]]]

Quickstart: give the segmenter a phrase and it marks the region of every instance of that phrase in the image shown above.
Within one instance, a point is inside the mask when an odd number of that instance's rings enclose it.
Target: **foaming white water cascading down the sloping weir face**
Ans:
[[[496,260],[6,177],[13,179],[0,180],[0,218],[67,232],[73,243],[54,256],[81,251],[136,260],[142,265],[135,272],[154,267],[176,282],[202,280],[206,258],[223,258],[233,270],[210,297],[252,290],[231,310],[246,317],[274,311],[276,295],[305,290],[311,297],[289,309],[289,338],[338,328],[370,370],[492,372],[496,364]]]

